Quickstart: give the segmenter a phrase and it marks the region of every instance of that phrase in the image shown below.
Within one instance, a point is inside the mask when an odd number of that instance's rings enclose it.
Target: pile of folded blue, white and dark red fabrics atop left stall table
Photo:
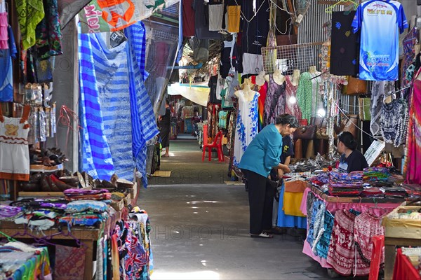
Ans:
[[[69,189],[64,193],[70,202],[59,223],[93,226],[107,219],[107,204],[111,203],[107,190]]]

